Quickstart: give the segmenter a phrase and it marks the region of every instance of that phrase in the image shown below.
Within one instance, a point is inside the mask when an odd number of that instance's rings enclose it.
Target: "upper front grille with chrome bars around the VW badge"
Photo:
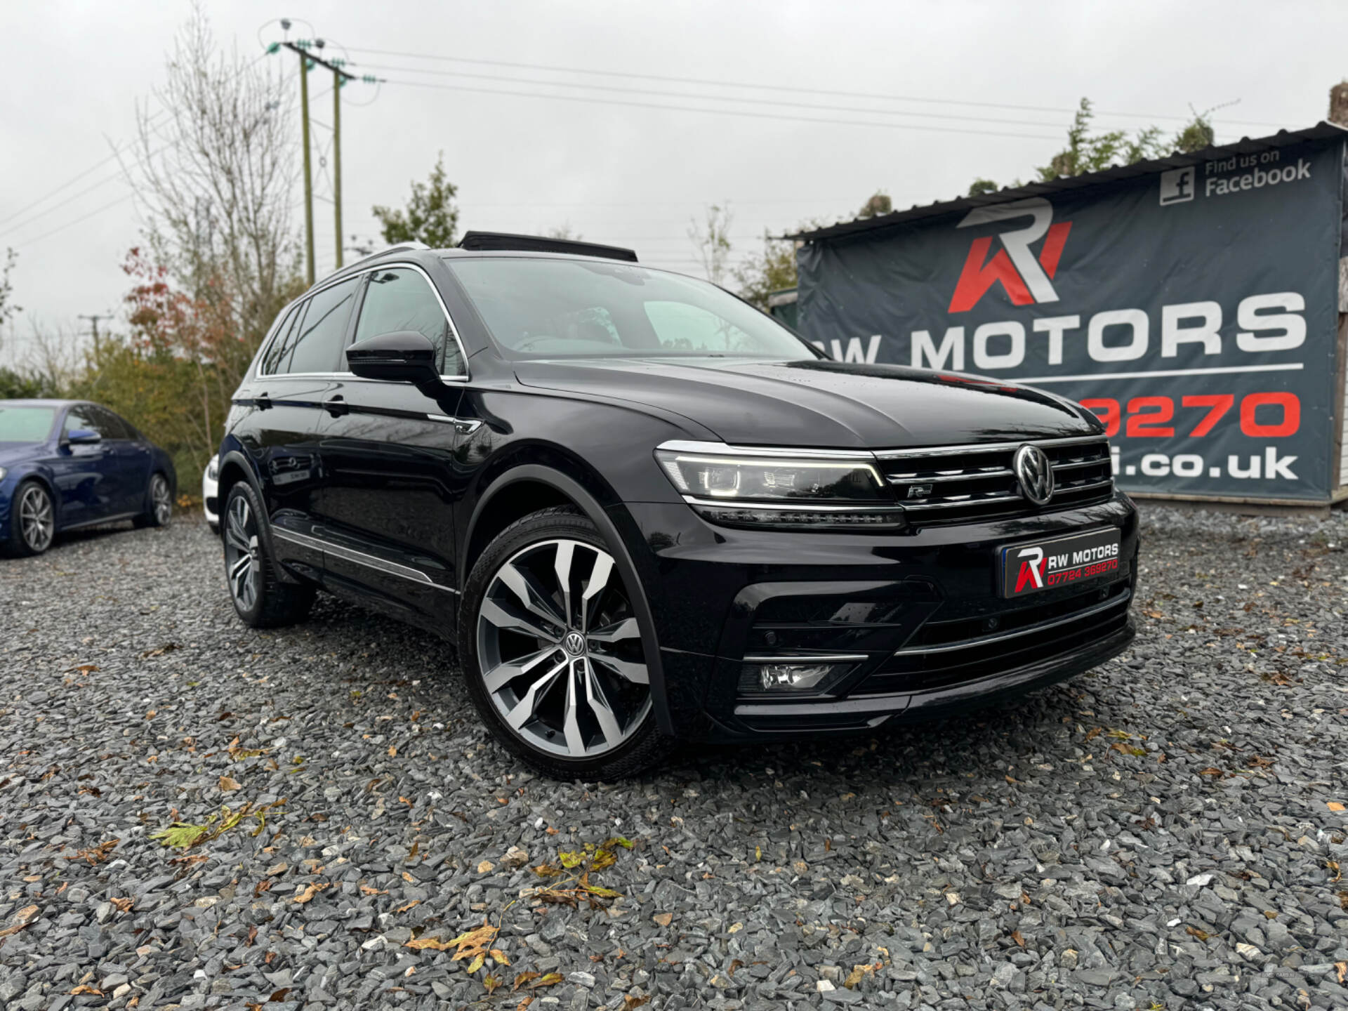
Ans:
[[[1109,442],[1103,437],[1035,441],[1053,465],[1054,492],[1046,506],[1020,493],[1011,469],[1023,442],[876,453],[884,477],[913,526],[968,523],[1103,501],[1113,493]]]

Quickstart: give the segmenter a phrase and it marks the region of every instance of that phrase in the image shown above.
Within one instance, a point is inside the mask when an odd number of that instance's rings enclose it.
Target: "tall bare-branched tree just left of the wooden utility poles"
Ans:
[[[137,108],[136,163],[127,170],[152,259],[191,298],[218,305],[247,356],[299,275],[288,90],[279,65],[221,51],[198,5],[155,90],[160,109]]]

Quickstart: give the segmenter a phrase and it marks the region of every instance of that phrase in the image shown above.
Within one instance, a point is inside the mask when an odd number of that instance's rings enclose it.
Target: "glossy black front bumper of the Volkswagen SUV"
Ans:
[[[1138,515],[1122,493],[910,534],[729,530],[683,506],[625,510],[613,518],[631,523],[661,643],[656,712],[685,739],[794,739],[968,710],[1089,670],[1135,634]],[[998,596],[1000,547],[1108,526],[1117,572]],[[744,658],[764,655],[853,662],[817,694],[741,687]]]

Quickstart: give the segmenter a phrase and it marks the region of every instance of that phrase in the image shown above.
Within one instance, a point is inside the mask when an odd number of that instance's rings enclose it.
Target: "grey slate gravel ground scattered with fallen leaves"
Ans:
[[[1348,1006],[1345,542],[1148,510],[1091,675],[603,786],[519,771],[427,635],[244,628],[201,524],[3,562],[0,1006]]]

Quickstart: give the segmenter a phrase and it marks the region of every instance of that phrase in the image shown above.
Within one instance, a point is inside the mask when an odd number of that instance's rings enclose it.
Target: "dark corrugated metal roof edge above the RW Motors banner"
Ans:
[[[1104,168],[1099,173],[1086,173],[1085,175],[1060,175],[1051,182],[1031,182],[1024,186],[1015,186],[998,190],[996,193],[987,193],[981,197],[957,197],[956,200],[937,201],[936,204],[927,204],[925,206],[914,205],[907,210],[895,210],[878,217],[844,221],[838,225],[817,228],[811,232],[797,232],[786,237],[801,239],[803,241],[840,239],[842,236],[857,235],[861,232],[875,232],[884,228],[894,228],[896,225],[906,225],[913,221],[921,221],[922,218],[952,214],[958,210],[984,208],[989,204],[1004,204],[1007,201],[1023,200],[1026,197],[1042,197],[1050,193],[1062,193],[1065,190],[1078,190],[1088,186],[1123,182],[1139,175],[1148,175],[1151,173],[1165,171],[1166,168],[1182,168],[1189,164],[1211,162],[1216,158],[1224,158],[1227,155],[1251,154],[1277,147],[1287,147],[1289,144],[1299,144],[1306,140],[1325,140],[1329,137],[1345,136],[1348,136],[1348,129],[1344,127],[1321,121],[1308,129],[1279,129],[1268,137],[1256,137],[1254,140],[1250,137],[1242,137],[1233,144],[1213,144],[1212,147],[1205,147],[1201,151],[1193,151],[1190,154],[1175,152],[1169,158],[1153,158],[1143,162],[1134,162],[1132,164]]]

